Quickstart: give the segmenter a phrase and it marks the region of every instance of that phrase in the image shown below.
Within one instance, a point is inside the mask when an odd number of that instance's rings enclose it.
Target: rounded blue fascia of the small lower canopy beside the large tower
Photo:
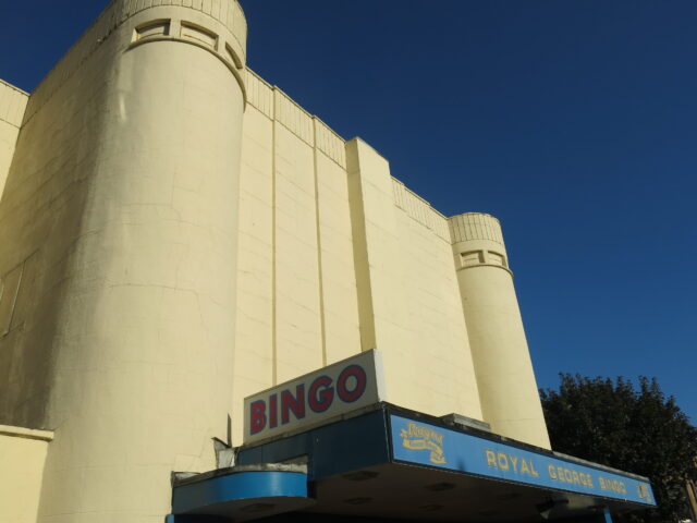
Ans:
[[[283,471],[232,472],[181,485],[172,494],[172,512],[185,514],[229,501],[276,497],[306,498],[307,475]]]

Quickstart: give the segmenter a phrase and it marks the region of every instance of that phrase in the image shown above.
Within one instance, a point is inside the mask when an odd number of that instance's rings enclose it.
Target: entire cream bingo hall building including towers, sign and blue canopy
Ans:
[[[651,507],[551,451],[498,220],[439,214],[245,45],[234,0],[115,0],[0,85],[0,522]]]

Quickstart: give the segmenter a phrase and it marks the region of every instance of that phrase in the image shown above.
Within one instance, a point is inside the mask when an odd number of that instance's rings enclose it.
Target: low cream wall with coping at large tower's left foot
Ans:
[[[0,425],[0,521],[36,523],[44,463],[53,434]]]

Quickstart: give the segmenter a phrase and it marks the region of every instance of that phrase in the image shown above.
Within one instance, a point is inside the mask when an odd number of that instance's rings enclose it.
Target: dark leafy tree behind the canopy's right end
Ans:
[[[659,508],[635,521],[674,523],[684,518],[697,428],[674,398],[667,398],[655,378],[639,378],[636,390],[621,377],[560,377],[559,391],[540,390],[552,448],[647,476]]]

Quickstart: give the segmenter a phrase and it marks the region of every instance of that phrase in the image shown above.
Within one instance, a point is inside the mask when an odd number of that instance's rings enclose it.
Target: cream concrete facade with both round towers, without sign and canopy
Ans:
[[[0,424],[54,431],[16,521],[161,522],[243,398],[371,349],[390,402],[549,448],[498,221],[245,45],[234,0],[115,0],[30,96],[0,84]]]

